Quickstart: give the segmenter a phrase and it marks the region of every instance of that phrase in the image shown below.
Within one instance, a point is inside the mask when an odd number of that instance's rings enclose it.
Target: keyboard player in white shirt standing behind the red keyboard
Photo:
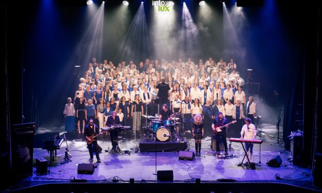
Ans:
[[[252,124],[252,121],[250,118],[246,118],[245,119],[245,124],[242,126],[241,131],[240,131],[240,139],[244,139],[244,140],[255,140],[256,137],[256,127],[254,124]],[[250,152],[250,162],[253,162],[253,143],[249,143],[249,142],[245,142],[245,149],[249,148],[249,151],[247,152],[247,154],[249,155]]]

